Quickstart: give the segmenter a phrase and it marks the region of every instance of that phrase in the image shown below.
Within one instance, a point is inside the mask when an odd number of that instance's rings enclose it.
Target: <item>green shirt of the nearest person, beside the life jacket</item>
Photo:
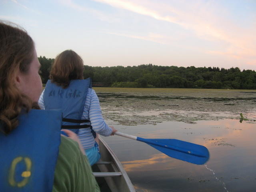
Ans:
[[[86,156],[78,143],[61,136],[52,192],[100,192]]]

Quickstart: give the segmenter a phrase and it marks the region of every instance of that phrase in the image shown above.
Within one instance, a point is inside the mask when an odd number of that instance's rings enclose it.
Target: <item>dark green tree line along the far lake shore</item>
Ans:
[[[42,82],[46,83],[54,59],[40,56]],[[84,66],[84,78],[106,87],[256,89],[256,72],[236,68],[139,66]]]

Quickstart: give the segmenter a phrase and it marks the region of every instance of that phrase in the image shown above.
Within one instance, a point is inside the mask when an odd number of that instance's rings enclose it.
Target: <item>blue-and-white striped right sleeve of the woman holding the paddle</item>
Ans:
[[[112,133],[112,128],[106,124],[102,117],[102,112],[100,109],[100,101],[96,92],[90,90],[90,108],[89,108],[89,119],[92,124],[92,129],[103,136],[110,136]]]

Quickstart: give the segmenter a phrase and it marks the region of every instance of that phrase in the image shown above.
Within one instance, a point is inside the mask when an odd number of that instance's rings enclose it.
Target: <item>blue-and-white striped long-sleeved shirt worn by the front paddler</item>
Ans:
[[[42,92],[38,100],[38,104],[40,108],[44,110],[43,95],[44,91]],[[96,92],[91,88],[88,88],[86,101],[84,104],[84,111],[81,119],[90,120],[92,129],[100,135],[110,136],[110,134],[112,133],[112,128],[110,128],[106,124],[102,117],[98,96],[96,95]],[[79,129],[77,135],[81,141],[84,150],[94,147],[95,141],[90,128]]]

